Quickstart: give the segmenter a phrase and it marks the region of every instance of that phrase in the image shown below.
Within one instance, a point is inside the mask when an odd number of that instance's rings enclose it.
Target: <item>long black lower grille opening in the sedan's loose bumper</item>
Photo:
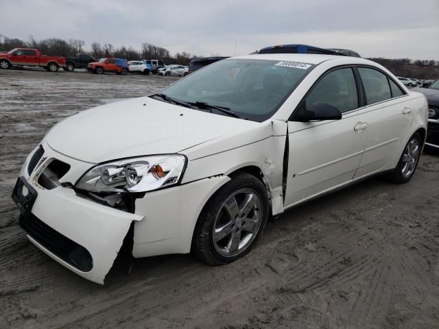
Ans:
[[[83,272],[93,268],[93,258],[87,249],[43,223],[34,214],[21,216],[19,223],[29,236],[71,266]]]

